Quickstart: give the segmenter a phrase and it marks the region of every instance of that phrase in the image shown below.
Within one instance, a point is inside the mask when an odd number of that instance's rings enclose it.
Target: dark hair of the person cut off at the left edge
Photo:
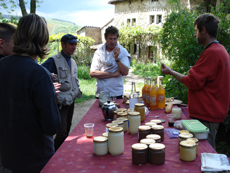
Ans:
[[[0,39],[9,43],[10,39],[14,36],[16,28],[8,23],[0,23]]]

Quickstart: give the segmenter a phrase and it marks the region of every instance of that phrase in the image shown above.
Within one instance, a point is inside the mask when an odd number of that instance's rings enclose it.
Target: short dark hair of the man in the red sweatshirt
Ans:
[[[202,27],[204,26],[208,34],[212,37],[217,37],[218,25],[220,20],[211,14],[202,14],[194,22],[197,25],[199,32],[202,32]]]

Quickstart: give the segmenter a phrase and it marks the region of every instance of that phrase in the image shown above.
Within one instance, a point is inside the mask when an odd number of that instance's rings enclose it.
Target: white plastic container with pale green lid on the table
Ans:
[[[209,128],[203,125],[199,120],[182,120],[183,129],[188,130],[198,140],[207,139]]]

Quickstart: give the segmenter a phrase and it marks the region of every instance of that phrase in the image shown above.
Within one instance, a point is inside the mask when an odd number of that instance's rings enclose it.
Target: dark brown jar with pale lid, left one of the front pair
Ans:
[[[148,162],[148,146],[146,144],[136,143],[132,145],[132,163],[142,165]]]

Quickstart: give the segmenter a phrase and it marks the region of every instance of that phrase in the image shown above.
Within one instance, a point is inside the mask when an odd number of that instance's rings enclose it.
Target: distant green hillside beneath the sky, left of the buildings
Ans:
[[[50,35],[58,33],[75,33],[81,26],[59,19],[47,19]]]

